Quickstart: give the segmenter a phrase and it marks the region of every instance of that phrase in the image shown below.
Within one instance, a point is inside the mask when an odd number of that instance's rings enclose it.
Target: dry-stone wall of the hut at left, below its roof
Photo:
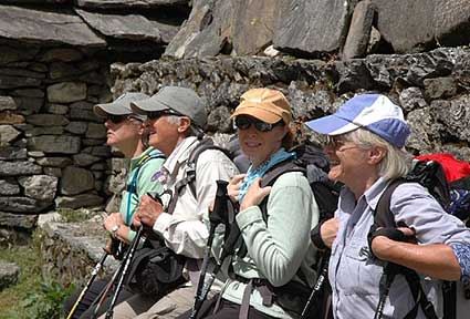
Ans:
[[[0,54],[0,226],[104,203],[106,130],[93,105],[111,99],[108,62],[70,47],[12,43]]]

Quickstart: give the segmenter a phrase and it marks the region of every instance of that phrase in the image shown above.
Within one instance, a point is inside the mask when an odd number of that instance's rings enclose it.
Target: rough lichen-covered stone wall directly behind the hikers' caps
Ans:
[[[209,131],[232,132],[229,115],[249,88],[281,90],[299,126],[332,113],[355,93],[383,92],[404,106],[415,154],[450,152],[470,158],[470,49],[368,55],[323,62],[272,58],[160,59],[112,66],[114,92],[157,92],[164,85],[195,89],[207,104]]]

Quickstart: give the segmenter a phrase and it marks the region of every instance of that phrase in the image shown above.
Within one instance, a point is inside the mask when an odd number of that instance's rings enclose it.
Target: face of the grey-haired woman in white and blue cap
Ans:
[[[365,174],[365,169],[370,169],[367,150],[357,144],[341,135],[334,136],[330,137],[324,152],[330,160],[330,179],[351,186],[368,176]]]

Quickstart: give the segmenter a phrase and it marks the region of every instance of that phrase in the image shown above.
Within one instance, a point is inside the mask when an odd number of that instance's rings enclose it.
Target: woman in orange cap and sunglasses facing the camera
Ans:
[[[251,161],[247,174],[228,186],[240,204],[236,224],[246,249],[243,244],[236,248],[231,279],[220,296],[205,301],[197,318],[295,318],[293,312],[299,315],[304,305],[289,300],[310,291],[315,278],[309,267],[314,260],[309,234],[317,223],[317,205],[302,172],[283,173],[271,186],[260,184],[273,167],[295,158],[288,151],[293,146],[291,106],[280,91],[253,89],[241,95],[230,119]],[[221,245],[223,239],[215,241]]]

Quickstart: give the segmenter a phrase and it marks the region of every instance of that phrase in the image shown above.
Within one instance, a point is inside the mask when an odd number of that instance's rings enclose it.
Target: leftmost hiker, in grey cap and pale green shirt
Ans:
[[[157,176],[156,174],[165,162],[165,156],[158,150],[148,147],[144,131],[146,116],[134,114],[130,109],[130,102],[144,99],[148,99],[148,95],[128,92],[111,103],[94,106],[95,114],[105,120],[104,125],[107,128],[106,144],[117,148],[125,158],[129,160],[126,187],[121,194],[119,212],[111,213],[103,223],[103,227],[115,240],[126,244],[130,243],[135,237],[135,231],[130,229],[129,225],[140,197],[148,192],[154,194],[161,191],[161,184],[153,176]],[[111,249],[111,247],[107,249]],[[88,309],[90,305],[106,285],[107,280],[96,280],[75,308],[72,318],[88,318],[94,312],[94,309]],[[132,295],[130,291],[124,290],[119,297],[125,299]],[[76,298],[77,295],[74,294],[66,301],[64,307],[66,313],[72,309],[72,302]],[[97,313],[103,313],[103,311],[107,310],[105,306],[102,308]]]

